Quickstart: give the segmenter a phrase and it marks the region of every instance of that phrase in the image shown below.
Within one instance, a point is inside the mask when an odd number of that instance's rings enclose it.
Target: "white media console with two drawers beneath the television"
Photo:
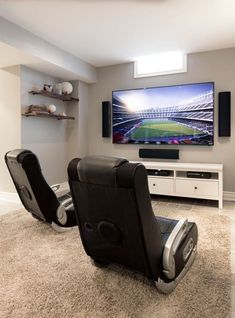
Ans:
[[[137,162],[137,161],[132,161]],[[140,162],[140,161],[138,161]],[[148,170],[151,194],[217,200],[223,207],[223,165],[203,163],[168,163],[141,161]],[[155,175],[154,171],[167,170],[167,176]],[[210,178],[188,177],[188,172],[209,172]]]

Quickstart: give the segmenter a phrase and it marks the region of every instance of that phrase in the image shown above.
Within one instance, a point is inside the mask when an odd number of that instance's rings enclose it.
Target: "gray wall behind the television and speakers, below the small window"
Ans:
[[[235,96],[235,49],[217,50],[188,56],[188,72],[148,78],[133,78],[133,63],[100,68],[98,81],[89,87],[88,153],[139,159],[139,148],[153,146],[115,145],[111,138],[101,137],[101,102],[111,101],[112,90],[174,85],[182,83],[215,82],[215,144],[207,146],[161,146],[179,148],[179,162],[223,163],[224,190],[235,192],[235,112],[232,110],[232,136],[218,137],[218,92]],[[156,148],[160,148],[159,146]]]

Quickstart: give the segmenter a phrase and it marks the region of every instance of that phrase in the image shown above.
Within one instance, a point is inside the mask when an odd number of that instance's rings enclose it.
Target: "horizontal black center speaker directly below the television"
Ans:
[[[139,149],[140,158],[179,159],[179,149]]]

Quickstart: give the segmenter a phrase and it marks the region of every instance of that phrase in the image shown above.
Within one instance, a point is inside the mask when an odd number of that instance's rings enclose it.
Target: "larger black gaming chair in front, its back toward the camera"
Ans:
[[[96,264],[119,263],[171,292],[196,256],[197,226],[155,217],[142,164],[91,156],[73,159],[69,185],[86,253]]]

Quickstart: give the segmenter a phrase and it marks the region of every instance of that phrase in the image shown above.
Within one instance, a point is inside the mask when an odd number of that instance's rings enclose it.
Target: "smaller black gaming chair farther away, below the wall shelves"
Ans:
[[[34,153],[15,149],[6,153],[5,161],[19,197],[33,217],[57,231],[77,225],[69,187],[67,191],[59,191],[59,184],[50,187]]]

